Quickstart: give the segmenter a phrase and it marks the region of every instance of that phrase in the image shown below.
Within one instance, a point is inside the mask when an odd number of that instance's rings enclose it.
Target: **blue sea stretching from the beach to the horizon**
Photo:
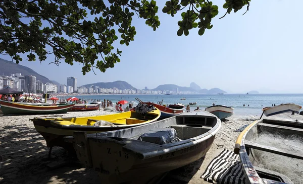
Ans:
[[[73,96],[64,96],[69,98]],[[135,101],[135,98],[139,98],[143,102],[158,103],[163,100],[163,104],[177,104],[181,103],[187,105],[189,103],[196,102],[196,105],[190,105],[190,110],[193,111],[197,107],[204,110],[205,108],[215,105],[226,105],[234,108],[235,115],[253,115],[261,116],[262,108],[271,107],[274,104],[294,103],[300,106],[303,105],[303,94],[223,94],[223,95],[203,95],[203,94],[191,94],[191,95],[78,95],[75,96],[78,99],[84,99],[88,102],[96,100],[111,100],[113,103],[121,100],[128,102]],[[59,97],[62,98],[62,97]],[[186,100],[181,100],[185,98]],[[136,105],[136,104],[134,104]],[[245,105],[245,107],[243,106]],[[248,107],[249,105],[249,107]],[[124,105],[125,106],[125,105]]]

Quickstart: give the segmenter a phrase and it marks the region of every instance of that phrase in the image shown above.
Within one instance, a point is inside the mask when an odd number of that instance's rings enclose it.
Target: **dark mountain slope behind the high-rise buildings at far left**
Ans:
[[[14,62],[1,59],[0,58],[0,75],[7,75],[11,76],[12,73],[21,73],[21,75],[33,75],[36,76],[37,80],[40,80],[43,83],[49,82],[53,83],[51,80],[49,80],[47,77],[38,74],[34,70],[30,69],[29,67],[22,66],[21,64],[16,64]]]

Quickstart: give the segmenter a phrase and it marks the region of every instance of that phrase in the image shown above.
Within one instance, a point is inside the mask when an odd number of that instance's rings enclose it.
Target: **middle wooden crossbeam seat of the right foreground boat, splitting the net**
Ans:
[[[250,142],[247,140],[245,140],[245,147],[249,147],[252,149],[258,149],[258,150],[266,151],[266,152],[270,152],[270,153],[275,153],[278,155],[288,156],[291,158],[303,159],[303,155],[301,155],[301,154],[292,153],[290,151],[284,151],[284,150],[281,150],[281,149],[278,149],[278,148],[275,148],[272,146],[265,146],[265,145],[261,145],[261,144],[255,143],[255,142]]]

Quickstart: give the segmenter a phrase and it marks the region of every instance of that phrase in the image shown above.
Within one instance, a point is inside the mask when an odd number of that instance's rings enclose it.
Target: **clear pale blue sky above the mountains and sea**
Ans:
[[[67,77],[77,78],[77,85],[124,80],[136,88],[156,88],[161,84],[187,86],[195,82],[201,88],[221,88],[228,93],[302,93],[303,1],[254,0],[237,13],[225,14],[225,1],[214,1],[219,14],[213,28],[203,36],[198,29],[188,36],[177,36],[175,17],[162,13],[166,1],[157,1],[161,25],[157,31],[145,25],[143,19],[133,18],[136,36],[129,46],[114,44],[122,50],[121,62],[105,73],[92,71],[82,75],[82,65],[46,61],[25,61],[21,65],[66,84]],[[8,55],[0,58],[11,60]]]

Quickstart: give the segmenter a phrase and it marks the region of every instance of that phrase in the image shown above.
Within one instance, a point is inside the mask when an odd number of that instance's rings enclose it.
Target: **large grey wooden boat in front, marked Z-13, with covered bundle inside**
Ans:
[[[151,178],[206,155],[221,121],[195,111],[124,130],[75,132],[78,159],[98,171],[102,183],[147,183]]]

